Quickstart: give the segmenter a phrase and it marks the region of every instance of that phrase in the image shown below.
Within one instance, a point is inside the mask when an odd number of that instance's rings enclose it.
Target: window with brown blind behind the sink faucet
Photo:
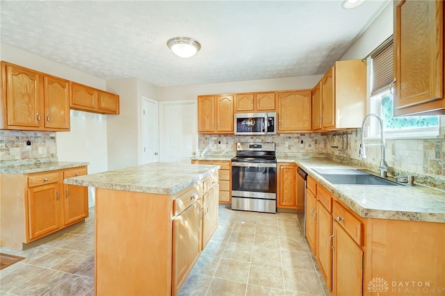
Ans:
[[[393,74],[392,38],[371,54],[371,113],[382,117],[385,138],[435,138],[439,135],[439,116],[394,117],[393,95],[390,92]],[[373,118],[369,137],[380,137],[378,120]]]

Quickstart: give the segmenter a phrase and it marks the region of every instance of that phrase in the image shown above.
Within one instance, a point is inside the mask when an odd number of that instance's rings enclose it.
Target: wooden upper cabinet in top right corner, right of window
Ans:
[[[443,115],[444,1],[394,1],[394,115]]]

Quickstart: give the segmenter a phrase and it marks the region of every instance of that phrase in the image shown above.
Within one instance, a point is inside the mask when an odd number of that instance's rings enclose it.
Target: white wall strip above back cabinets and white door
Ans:
[[[162,89],[161,101],[195,100],[199,94],[299,90],[313,88],[323,75],[175,86]]]

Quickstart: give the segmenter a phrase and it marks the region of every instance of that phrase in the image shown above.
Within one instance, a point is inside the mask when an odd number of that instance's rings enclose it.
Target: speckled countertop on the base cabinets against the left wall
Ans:
[[[10,165],[7,167],[0,167],[0,172],[8,174],[32,174],[36,172],[48,172],[54,170],[64,170],[72,167],[83,167],[90,163],[68,163],[68,162],[49,162],[49,163],[28,163],[22,165]]]

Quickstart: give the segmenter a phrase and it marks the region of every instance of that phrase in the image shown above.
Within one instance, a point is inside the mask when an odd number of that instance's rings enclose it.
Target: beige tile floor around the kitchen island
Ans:
[[[24,252],[0,271],[0,295],[94,295],[94,211],[76,229]],[[330,295],[297,215],[220,206],[218,230],[179,295]]]

